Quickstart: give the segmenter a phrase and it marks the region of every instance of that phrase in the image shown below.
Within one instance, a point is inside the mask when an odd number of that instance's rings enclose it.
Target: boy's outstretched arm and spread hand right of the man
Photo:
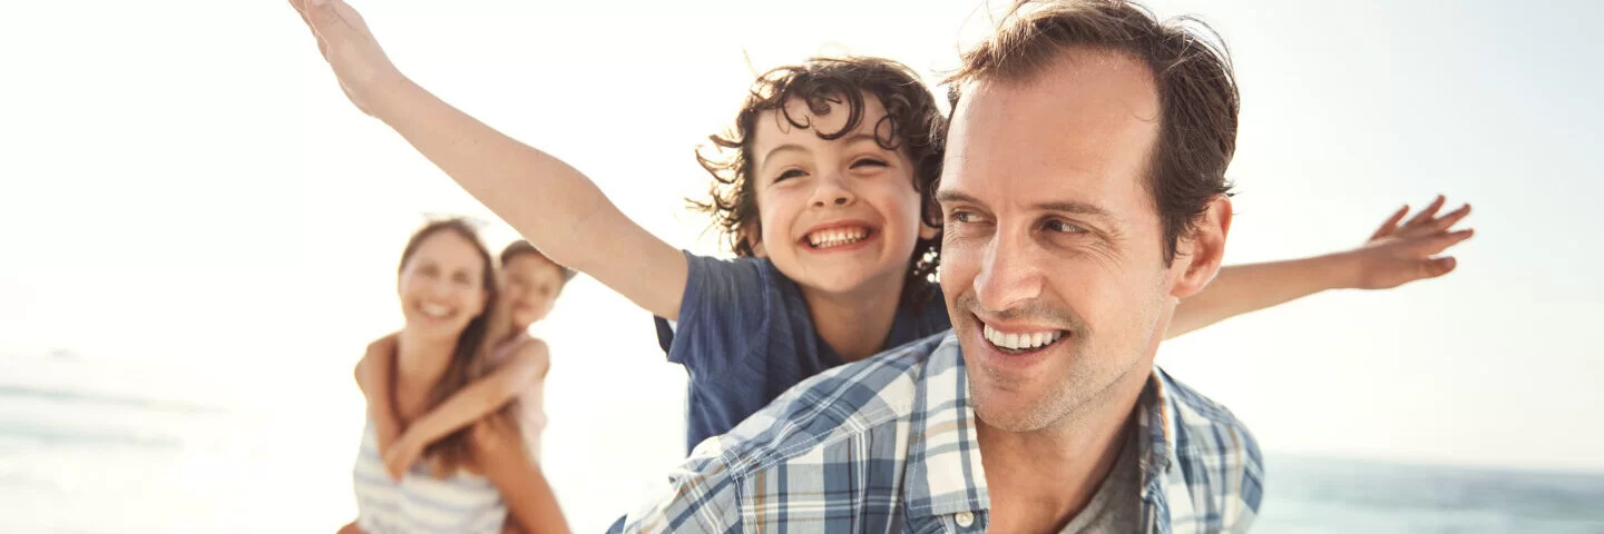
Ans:
[[[1302,260],[1235,265],[1203,292],[1182,300],[1166,337],[1177,337],[1250,311],[1270,308],[1328,289],[1392,289],[1453,271],[1453,257],[1436,257],[1469,239],[1474,231],[1450,231],[1471,215],[1471,205],[1437,216],[1444,197],[1399,226],[1405,205],[1392,213],[1362,247]]]

